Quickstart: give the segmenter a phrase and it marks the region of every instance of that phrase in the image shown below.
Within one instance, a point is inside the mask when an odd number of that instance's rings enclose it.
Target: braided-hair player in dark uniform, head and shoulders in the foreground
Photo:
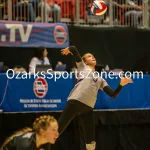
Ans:
[[[0,150],[50,150],[58,138],[58,123],[52,116],[41,116],[33,129],[24,128],[6,139]]]

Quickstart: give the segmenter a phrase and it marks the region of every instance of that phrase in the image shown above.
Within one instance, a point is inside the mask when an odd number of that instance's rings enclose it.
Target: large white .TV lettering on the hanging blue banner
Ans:
[[[16,38],[20,36],[21,42],[28,42],[33,26],[27,25],[26,31],[22,24],[6,24],[5,27],[9,29],[10,33],[7,32],[5,35],[1,35],[1,41],[6,42],[9,37],[10,42],[15,42]]]

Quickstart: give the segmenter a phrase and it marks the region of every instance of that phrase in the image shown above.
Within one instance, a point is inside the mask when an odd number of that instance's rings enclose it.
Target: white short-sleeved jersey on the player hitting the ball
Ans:
[[[83,61],[78,64],[78,75],[78,82],[72,89],[68,100],[78,100],[94,108],[98,90],[103,90],[108,84],[103,78],[96,77],[96,74]]]

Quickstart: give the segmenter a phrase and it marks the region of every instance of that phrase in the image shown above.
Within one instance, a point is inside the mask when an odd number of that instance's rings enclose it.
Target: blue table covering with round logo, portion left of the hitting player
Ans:
[[[8,79],[6,75],[0,75],[1,108],[5,112],[62,110],[74,80],[56,78],[35,78],[31,75],[27,79],[15,75],[13,79]]]

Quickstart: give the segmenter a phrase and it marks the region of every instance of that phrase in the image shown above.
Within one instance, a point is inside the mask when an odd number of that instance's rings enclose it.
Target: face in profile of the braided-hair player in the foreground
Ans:
[[[59,136],[58,123],[51,122],[50,126],[44,131],[43,136],[47,142],[54,144]]]

